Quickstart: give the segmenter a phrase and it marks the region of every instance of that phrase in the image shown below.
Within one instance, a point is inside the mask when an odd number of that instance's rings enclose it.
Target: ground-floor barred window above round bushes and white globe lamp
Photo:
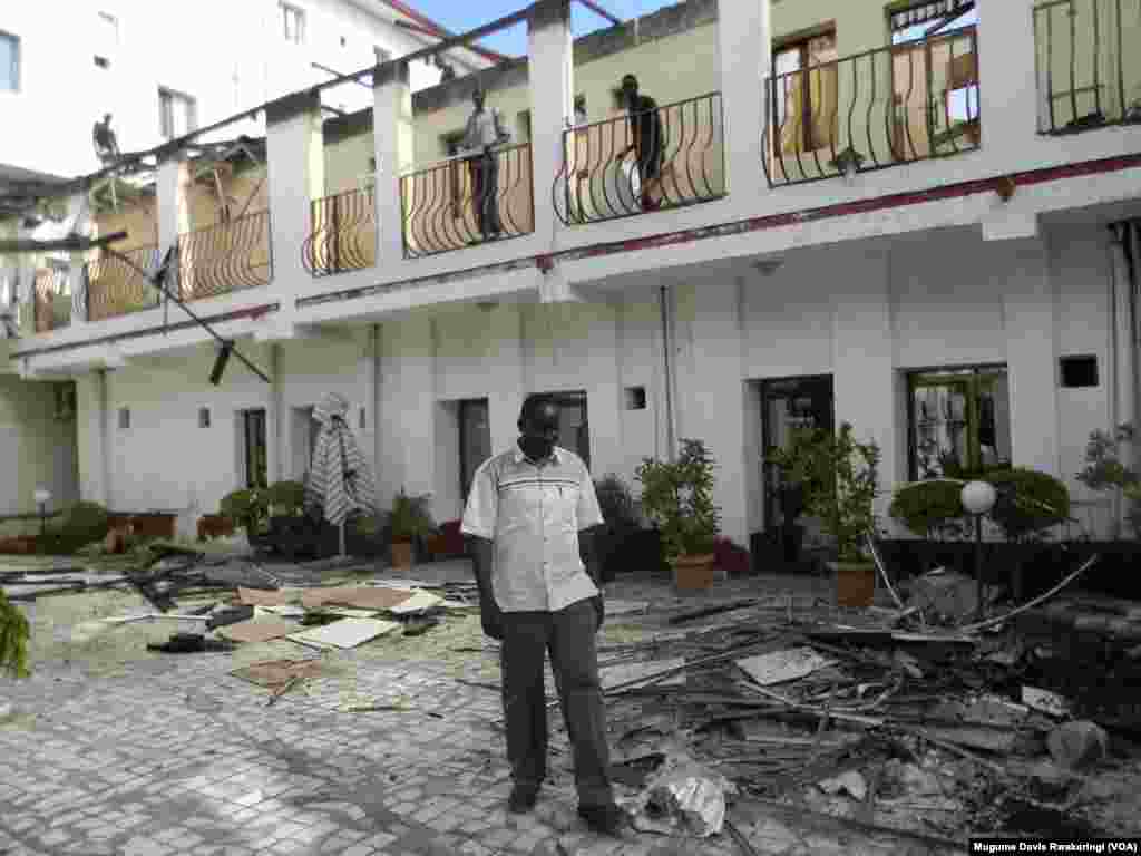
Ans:
[[[1005,366],[916,372],[907,386],[913,481],[1010,466]]]

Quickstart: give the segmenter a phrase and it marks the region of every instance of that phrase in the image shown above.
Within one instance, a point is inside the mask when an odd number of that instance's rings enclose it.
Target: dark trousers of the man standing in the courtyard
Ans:
[[[610,753],[598,678],[594,633],[598,616],[590,600],[559,612],[503,613],[503,716],[507,758],[517,784],[537,786],[547,776],[545,654],[563,705],[574,751],[578,802],[608,805]]]

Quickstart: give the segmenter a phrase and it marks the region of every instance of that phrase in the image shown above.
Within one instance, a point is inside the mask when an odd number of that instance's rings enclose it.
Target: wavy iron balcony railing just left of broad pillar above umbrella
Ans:
[[[268,210],[178,236],[183,300],[266,285],[272,277]]]

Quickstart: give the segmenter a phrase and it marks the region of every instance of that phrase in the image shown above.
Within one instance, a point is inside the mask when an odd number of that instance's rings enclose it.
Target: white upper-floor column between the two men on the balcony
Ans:
[[[555,176],[563,167],[564,131],[574,115],[574,47],[569,0],[540,0],[527,21],[531,87],[531,165],[534,176]],[[549,179],[547,179],[549,180]],[[535,181],[535,235],[555,236],[555,202]]]

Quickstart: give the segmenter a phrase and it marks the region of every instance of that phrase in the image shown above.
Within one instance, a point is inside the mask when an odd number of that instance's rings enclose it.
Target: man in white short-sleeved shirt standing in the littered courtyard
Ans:
[[[593,532],[602,523],[582,459],[556,446],[559,409],[532,395],[519,439],[472,479],[462,531],[470,536],[484,632],[502,640],[503,716],[513,786],[509,809],[528,811],[547,776],[545,652],[550,652],[574,751],[578,814],[618,834],[594,635],[602,624]]]

